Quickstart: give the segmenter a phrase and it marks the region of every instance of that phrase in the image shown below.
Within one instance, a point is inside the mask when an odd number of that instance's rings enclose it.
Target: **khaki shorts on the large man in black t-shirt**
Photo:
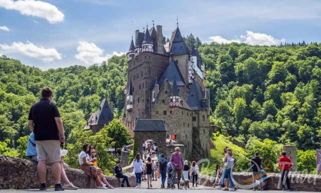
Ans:
[[[58,140],[36,141],[36,150],[38,161],[47,160],[47,163],[55,163],[61,160]]]

